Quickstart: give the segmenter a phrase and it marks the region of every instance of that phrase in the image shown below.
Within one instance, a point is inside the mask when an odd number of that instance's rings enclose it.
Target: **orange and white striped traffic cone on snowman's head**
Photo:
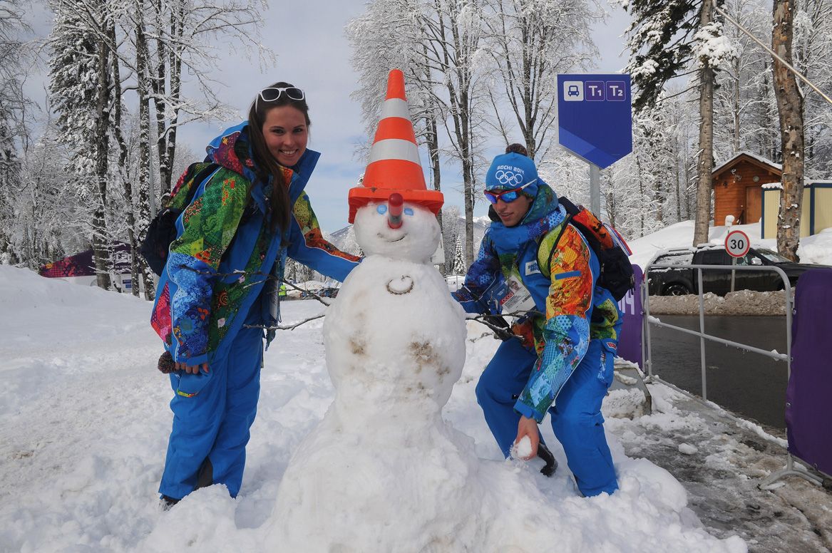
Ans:
[[[349,222],[355,220],[359,207],[371,201],[388,200],[395,192],[401,194],[404,201],[423,205],[434,214],[439,213],[444,203],[442,192],[428,190],[425,185],[414,126],[404,96],[404,73],[399,69],[390,71],[387,78],[387,96],[369,151],[364,180],[361,186],[349,190]]]

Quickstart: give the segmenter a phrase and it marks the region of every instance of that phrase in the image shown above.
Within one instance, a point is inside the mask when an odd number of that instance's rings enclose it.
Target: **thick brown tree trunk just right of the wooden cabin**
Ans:
[[[791,43],[794,32],[796,0],[775,0],[771,49],[786,62],[792,63]],[[800,245],[800,206],[803,203],[803,95],[797,79],[788,67],[774,60],[775,97],[780,114],[780,149],[783,173],[780,194],[780,215],[777,225],[777,251],[793,261],[798,260]]]

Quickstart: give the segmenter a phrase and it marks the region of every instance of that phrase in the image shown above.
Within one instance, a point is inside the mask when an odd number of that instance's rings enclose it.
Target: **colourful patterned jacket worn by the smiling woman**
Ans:
[[[156,289],[151,326],[177,362],[210,364],[222,358],[266,275],[283,278],[287,254],[342,281],[359,262],[324,240],[304,192],[318,152],[307,150],[295,167],[283,168],[293,216],[288,230],[271,230],[271,184],[255,176],[247,127],[233,126],[210,143],[206,160],[220,168],[201,183],[176,221],[178,238]],[[278,294],[264,295],[269,298],[260,302],[262,323],[273,325],[280,318],[272,308]],[[268,333],[267,342],[273,337]]]

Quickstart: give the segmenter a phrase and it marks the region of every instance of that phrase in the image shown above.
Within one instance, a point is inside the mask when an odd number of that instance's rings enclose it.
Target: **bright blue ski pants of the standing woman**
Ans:
[[[209,373],[171,373],[173,429],[159,485],[162,495],[181,499],[197,482],[225,484],[232,497],[240,492],[262,361],[262,328],[241,328],[227,356],[211,363]]]

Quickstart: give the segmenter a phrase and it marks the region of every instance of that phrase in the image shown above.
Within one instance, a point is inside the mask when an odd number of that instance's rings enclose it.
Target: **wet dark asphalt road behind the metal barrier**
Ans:
[[[693,330],[699,318],[657,315],[662,323]],[[705,332],[755,348],[786,352],[785,317],[715,316],[705,318]],[[653,373],[701,396],[699,337],[651,324]],[[785,361],[706,341],[707,398],[744,418],[785,428]]]

